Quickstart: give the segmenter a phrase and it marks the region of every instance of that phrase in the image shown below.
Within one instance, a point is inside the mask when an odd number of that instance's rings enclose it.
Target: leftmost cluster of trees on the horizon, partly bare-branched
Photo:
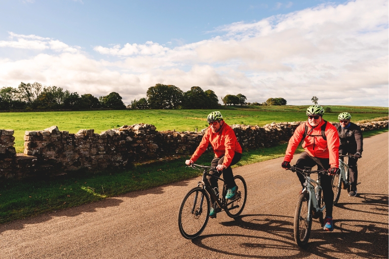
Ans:
[[[126,109],[122,97],[115,92],[98,99],[91,94],[70,93],[60,87],[46,87],[41,83],[21,82],[18,88],[0,89],[0,110],[52,110],[52,109]]]

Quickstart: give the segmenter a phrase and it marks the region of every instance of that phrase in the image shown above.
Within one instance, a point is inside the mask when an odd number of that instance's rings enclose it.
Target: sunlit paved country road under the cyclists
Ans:
[[[387,258],[388,133],[364,147],[359,196],[342,191],[335,230],[315,220],[305,250],[293,239],[299,183],[279,158],[235,168],[248,183],[242,218],[218,213],[196,240],[177,227],[191,179],[0,225],[0,258]]]

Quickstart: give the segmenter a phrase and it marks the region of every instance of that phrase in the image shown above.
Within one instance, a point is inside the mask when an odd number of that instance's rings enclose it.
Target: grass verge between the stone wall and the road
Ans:
[[[364,137],[387,131],[366,132]],[[287,143],[284,143],[244,152],[241,161],[234,167],[282,157],[286,147]],[[301,148],[297,150],[302,151]],[[209,164],[212,157],[212,153],[204,154],[197,163]],[[185,167],[187,158],[182,156],[126,170],[77,171],[54,179],[3,181],[0,183],[0,223],[199,176],[199,171]]]

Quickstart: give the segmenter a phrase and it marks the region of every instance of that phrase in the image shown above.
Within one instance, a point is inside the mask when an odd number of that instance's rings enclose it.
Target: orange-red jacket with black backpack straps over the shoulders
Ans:
[[[284,161],[290,162],[293,158],[293,154],[296,151],[298,145],[302,140],[302,136],[305,132],[305,125],[308,126],[308,132],[306,137],[302,143],[302,147],[305,151],[313,157],[320,158],[329,158],[331,167],[339,167],[339,135],[336,131],[334,125],[330,122],[327,122],[325,135],[327,137],[327,141],[322,137],[321,126],[324,124],[324,120],[317,125],[313,131],[312,126],[309,125],[308,121],[305,121],[301,125],[299,125],[292,138],[289,140],[288,148],[286,149]],[[309,136],[315,135],[315,136]]]

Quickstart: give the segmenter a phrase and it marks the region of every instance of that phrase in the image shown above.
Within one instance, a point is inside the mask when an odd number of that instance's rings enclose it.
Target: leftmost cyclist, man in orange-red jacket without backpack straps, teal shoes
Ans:
[[[193,153],[189,160],[185,163],[190,165],[196,162],[197,159],[205,152],[208,145],[211,144],[215,157],[211,161],[211,166],[215,166],[216,170],[210,171],[211,175],[220,177],[223,173],[224,187],[227,190],[226,199],[234,198],[237,192],[237,185],[234,181],[231,165],[236,164],[242,158],[242,147],[239,144],[234,130],[224,122],[223,116],[219,111],[211,112],[207,117],[209,127],[207,128],[199,147]],[[217,178],[207,177],[209,184],[216,195],[219,194]],[[216,217],[216,204],[211,196],[212,206],[210,208],[209,217]]]

